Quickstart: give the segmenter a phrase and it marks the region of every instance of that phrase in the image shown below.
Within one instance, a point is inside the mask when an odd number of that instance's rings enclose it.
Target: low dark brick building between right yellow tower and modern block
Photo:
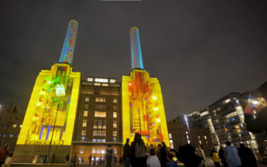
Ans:
[[[211,146],[211,134],[209,128],[204,127],[197,119],[187,116],[177,116],[172,121],[167,122],[169,131],[170,147],[176,150],[184,144],[192,144],[193,146],[201,146],[205,156],[209,156]]]

